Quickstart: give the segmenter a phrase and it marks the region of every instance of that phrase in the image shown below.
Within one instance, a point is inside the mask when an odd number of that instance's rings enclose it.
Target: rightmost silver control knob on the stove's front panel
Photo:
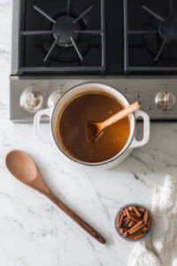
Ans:
[[[169,110],[171,109],[175,104],[175,97],[171,92],[167,91],[160,91],[158,92],[155,103],[156,105],[161,108],[162,110]]]

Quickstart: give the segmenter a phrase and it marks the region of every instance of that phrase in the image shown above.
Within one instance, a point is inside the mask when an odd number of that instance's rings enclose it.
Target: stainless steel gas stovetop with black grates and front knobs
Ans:
[[[103,82],[151,120],[176,120],[175,0],[16,0],[12,121],[33,121],[81,82]],[[43,119],[45,121],[45,119]]]

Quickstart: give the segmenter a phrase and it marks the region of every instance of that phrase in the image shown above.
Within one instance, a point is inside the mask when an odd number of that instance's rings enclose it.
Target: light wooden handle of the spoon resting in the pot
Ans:
[[[124,118],[129,113],[134,113],[136,110],[140,108],[141,108],[140,102],[135,102],[134,104],[127,106],[126,108],[121,110],[119,113],[114,114],[112,117],[102,122],[102,128],[105,129],[106,127],[112,125],[116,121],[119,121],[120,119]]]

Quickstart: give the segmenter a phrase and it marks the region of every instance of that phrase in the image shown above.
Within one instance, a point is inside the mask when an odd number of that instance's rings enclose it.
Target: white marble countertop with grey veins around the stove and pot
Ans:
[[[177,172],[177,124],[151,124],[150,143],[119,167],[73,170],[58,152],[33,137],[31,124],[9,121],[11,0],[0,0],[0,261],[3,266],[124,266],[135,244],[119,239],[117,210],[129,202],[150,207],[154,184]],[[3,36],[3,38],[2,38]],[[48,125],[42,125],[48,130]],[[36,160],[50,189],[107,240],[99,244],[39,193],[20,184],[4,165],[21,149]]]

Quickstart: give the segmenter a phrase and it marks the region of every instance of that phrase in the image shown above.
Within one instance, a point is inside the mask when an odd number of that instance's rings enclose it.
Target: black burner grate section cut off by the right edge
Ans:
[[[175,0],[137,1],[139,6],[137,8],[136,3],[135,10],[130,2],[131,0],[124,0],[125,72],[176,72]],[[135,20],[133,13],[136,14]]]

